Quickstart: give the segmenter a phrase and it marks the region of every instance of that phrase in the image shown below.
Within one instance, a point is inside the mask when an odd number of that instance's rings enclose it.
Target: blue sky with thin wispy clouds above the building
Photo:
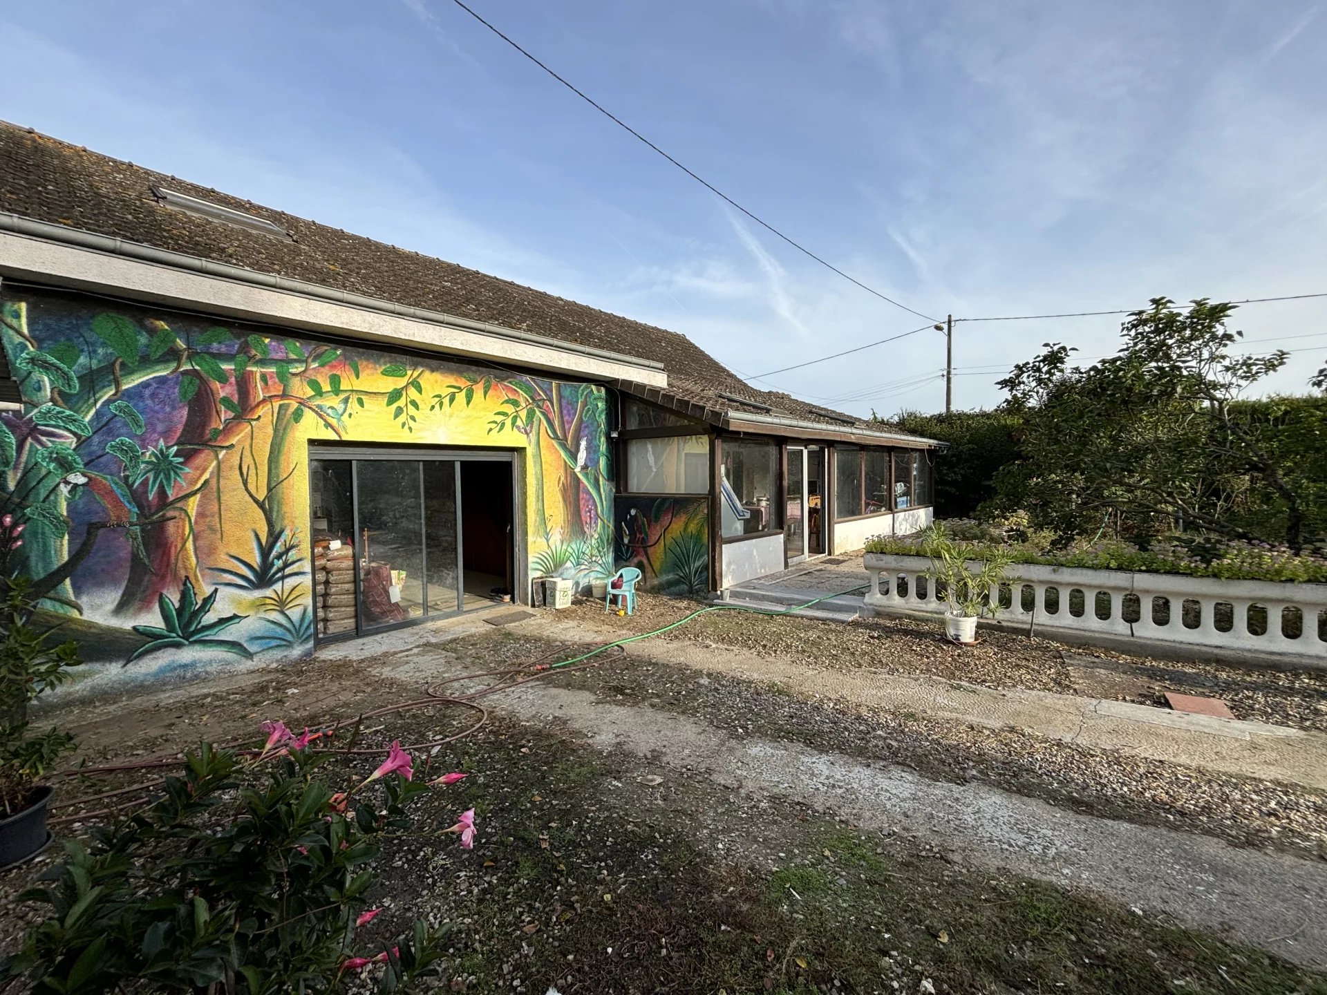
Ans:
[[[1327,291],[1327,9],[1302,0],[472,0],[710,182],[936,316]],[[0,117],[682,332],[759,375],[921,325],[817,267],[451,0],[46,0]],[[1327,298],[1250,305],[1327,358]],[[959,325],[955,403],[1108,317]],[[1314,337],[1308,337],[1314,336]],[[629,349],[629,344],[624,344]],[[770,378],[937,410],[924,332]],[[991,367],[991,370],[983,369]]]

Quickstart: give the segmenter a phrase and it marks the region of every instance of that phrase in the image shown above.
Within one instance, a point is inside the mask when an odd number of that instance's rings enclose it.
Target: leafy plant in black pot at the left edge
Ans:
[[[50,842],[41,777],[74,738],[57,728],[32,732],[28,704],[69,679],[78,645],[49,646],[32,624],[32,598],[23,580],[9,582],[0,606],[0,869],[28,860]]]

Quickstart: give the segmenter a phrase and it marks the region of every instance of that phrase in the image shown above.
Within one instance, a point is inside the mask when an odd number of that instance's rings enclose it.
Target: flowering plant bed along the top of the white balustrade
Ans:
[[[1015,564],[1082,566],[1096,570],[1174,573],[1221,580],[1261,580],[1327,584],[1327,548],[1294,552],[1285,545],[1249,543],[1212,536],[1161,536],[1145,547],[1121,539],[1076,540],[1056,544],[1051,532],[1022,524],[950,519],[941,523],[954,544],[973,560],[1007,555]],[[908,536],[872,536],[868,553],[925,556],[926,532]]]

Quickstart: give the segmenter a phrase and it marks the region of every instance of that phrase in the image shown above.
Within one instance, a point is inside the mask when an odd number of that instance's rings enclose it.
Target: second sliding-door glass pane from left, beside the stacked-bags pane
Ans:
[[[360,499],[360,613],[365,629],[423,614],[419,462],[356,460]]]

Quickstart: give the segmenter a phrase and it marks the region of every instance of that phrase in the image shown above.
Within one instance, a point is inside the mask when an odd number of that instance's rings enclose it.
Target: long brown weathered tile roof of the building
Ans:
[[[166,207],[153,194],[154,186],[269,219],[291,237]],[[767,406],[778,417],[868,427],[852,415],[788,394],[755,390],[677,332],[296,218],[7,122],[0,122],[0,211],[652,360],[667,371],[670,393],[715,411],[742,409],[719,397],[731,394]]]

